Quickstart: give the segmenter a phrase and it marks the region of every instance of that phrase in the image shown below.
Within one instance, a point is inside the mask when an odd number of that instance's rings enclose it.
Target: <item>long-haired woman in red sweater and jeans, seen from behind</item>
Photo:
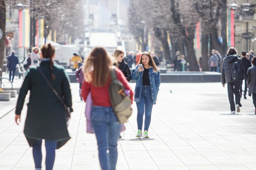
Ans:
[[[102,170],[116,169],[117,140],[121,129],[121,124],[113,112],[108,92],[111,83],[111,66],[112,62],[106,50],[102,47],[95,47],[85,61],[85,81],[82,84],[83,100],[86,100],[89,92],[93,100],[91,124],[97,138]],[[118,68],[115,70],[118,80],[125,89],[130,90],[131,100],[133,100],[133,91],[124,74]]]

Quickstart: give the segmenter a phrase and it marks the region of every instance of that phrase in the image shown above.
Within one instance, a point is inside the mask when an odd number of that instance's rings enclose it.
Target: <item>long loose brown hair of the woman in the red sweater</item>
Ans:
[[[95,47],[84,62],[84,79],[95,87],[107,85],[111,60],[103,47]]]

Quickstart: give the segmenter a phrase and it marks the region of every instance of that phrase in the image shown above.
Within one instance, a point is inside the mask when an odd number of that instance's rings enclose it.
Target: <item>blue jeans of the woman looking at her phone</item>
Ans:
[[[151,122],[151,112],[153,108],[153,100],[151,95],[150,86],[142,86],[140,102],[136,102],[137,105],[137,126],[138,129],[142,130],[143,125],[143,115],[145,108],[145,122],[144,130],[148,130]]]

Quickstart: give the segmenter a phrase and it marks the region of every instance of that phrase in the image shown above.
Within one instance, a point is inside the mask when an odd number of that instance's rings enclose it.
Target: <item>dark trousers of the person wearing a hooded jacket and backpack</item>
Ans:
[[[240,107],[242,107],[242,105],[240,103],[241,96],[239,93],[239,89],[240,89],[240,81],[228,83],[228,99],[229,99],[229,103],[230,103],[231,112],[236,111],[236,105],[239,105]],[[235,94],[236,105],[234,102],[234,94]]]

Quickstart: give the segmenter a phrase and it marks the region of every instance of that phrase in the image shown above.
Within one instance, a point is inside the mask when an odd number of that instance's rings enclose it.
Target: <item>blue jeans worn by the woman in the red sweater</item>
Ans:
[[[121,130],[112,107],[93,106],[91,123],[97,138],[99,160],[102,170],[115,170],[117,162],[117,140]],[[107,150],[109,153],[107,153]]]

